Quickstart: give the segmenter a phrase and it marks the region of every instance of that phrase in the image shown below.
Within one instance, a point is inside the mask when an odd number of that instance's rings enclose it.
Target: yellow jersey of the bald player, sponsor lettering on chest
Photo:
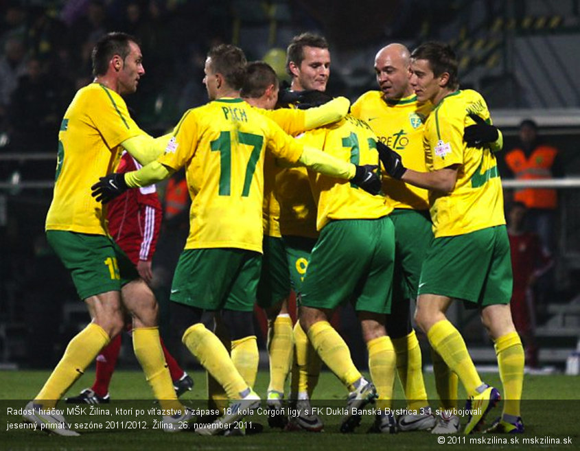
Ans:
[[[401,155],[405,167],[426,172],[423,150],[425,121],[432,110],[420,104],[415,94],[400,100],[385,100],[380,91],[368,91],[351,106],[351,114],[367,122],[380,141]],[[385,201],[393,208],[427,210],[428,191],[389,176],[382,177]]]

